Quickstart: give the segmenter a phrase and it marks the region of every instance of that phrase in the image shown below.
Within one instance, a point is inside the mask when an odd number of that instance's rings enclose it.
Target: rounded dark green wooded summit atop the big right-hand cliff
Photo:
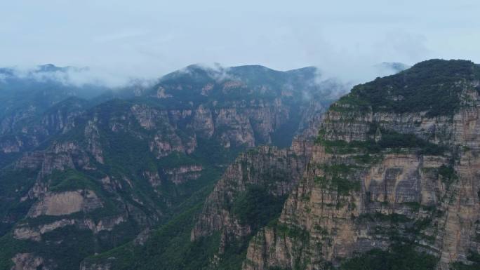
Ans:
[[[451,115],[460,109],[462,91],[477,88],[480,67],[467,60],[427,60],[392,76],[355,86],[340,102],[373,111]]]

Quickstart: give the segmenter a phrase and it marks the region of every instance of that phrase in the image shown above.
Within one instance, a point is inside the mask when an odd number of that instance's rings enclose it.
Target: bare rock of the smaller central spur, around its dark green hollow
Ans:
[[[221,255],[230,241],[252,234],[252,225],[239,220],[231,205],[251,187],[265,189],[267,196],[289,194],[305,170],[311,147],[312,141],[295,140],[290,149],[257,147],[236,158],[206,199],[191,240],[220,232]]]

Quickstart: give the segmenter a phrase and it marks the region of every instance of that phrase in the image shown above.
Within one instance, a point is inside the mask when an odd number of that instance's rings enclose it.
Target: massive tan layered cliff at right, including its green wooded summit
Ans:
[[[431,268],[475,263],[479,74],[471,62],[422,62],[333,104],[305,175],[243,269],[324,269],[398,245],[432,256]],[[430,90],[451,107],[413,102]]]

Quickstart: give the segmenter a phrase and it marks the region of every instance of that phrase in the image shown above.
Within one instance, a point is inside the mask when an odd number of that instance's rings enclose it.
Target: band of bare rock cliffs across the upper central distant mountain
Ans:
[[[223,104],[222,107],[213,103],[208,107],[200,104],[196,109],[181,110],[159,110],[135,104],[131,107],[131,112],[145,130],[159,130],[149,139],[150,151],[159,158],[175,151],[191,154],[197,147],[197,136],[207,139],[215,137],[225,148],[271,143],[272,134],[291,121],[292,117],[293,108],[283,104],[281,99],[235,101]],[[310,111],[321,114],[324,107],[316,106]],[[298,121],[300,127],[300,120]],[[126,128],[124,123],[117,121],[112,121],[109,125],[114,131]],[[93,152],[92,149],[91,151]]]

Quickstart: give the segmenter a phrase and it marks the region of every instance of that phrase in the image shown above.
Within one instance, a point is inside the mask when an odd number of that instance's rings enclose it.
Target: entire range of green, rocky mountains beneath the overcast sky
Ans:
[[[381,65],[1,69],[0,269],[478,269],[480,67]]]

